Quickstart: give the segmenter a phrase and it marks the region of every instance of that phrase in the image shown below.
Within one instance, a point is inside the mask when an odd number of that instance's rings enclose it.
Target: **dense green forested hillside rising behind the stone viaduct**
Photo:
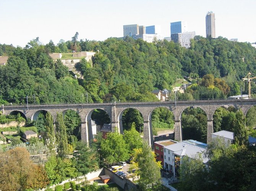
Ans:
[[[76,33],[71,41],[60,40],[57,46],[52,41],[44,46],[37,37],[25,48],[0,45],[0,50],[0,55],[10,56],[8,64],[0,67],[0,96],[12,103],[23,103],[26,95],[33,94],[37,103],[78,103],[85,101],[86,91],[89,102],[153,101],[153,89],[171,89],[182,75],[206,76],[179,99],[223,98],[238,94],[239,86],[246,91],[241,77],[256,73],[256,50],[222,37],[196,36],[191,48],[185,49],[172,41],[146,43],[130,37],[78,41]],[[84,79],[71,80],[66,67],[59,61],[54,64],[48,55],[73,50],[96,51],[91,63],[80,62],[78,70]]]

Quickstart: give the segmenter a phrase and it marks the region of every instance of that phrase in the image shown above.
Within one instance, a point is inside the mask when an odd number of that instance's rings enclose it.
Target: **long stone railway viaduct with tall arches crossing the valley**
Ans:
[[[213,114],[219,107],[233,106],[241,108],[244,115],[253,106],[256,105],[256,99],[247,100],[190,100],[190,101],[174,101],[170,102],[126,102],[126,103],[85,103],[85,104],[63,104],[63,105],[9,105],[1,106],[0,110],[4,115],[8,115],[13,111],[19,111],[31,120],[36,120],[39,112],[48,111],[56,120],[57,112],[65,114],[67,110],[75,110],[81,117],[81,140],[89,143],[92,139],[91,114],[94,109],[104,110],[110,117],[112,131],[114,127],[118,127],[118,131],[123,133],[122,114],[127,108],[134,108],[140,111],[144,119],[143,137],[149,145],[153,144],[151,115],[152,111],[157,107],[166,107],[173,112],[175,117],[175,140],[182,140],[181,114],[188,107],[199,107],[205,111],[207,115],[207,143],[211,141],[213,133]],[[55,123],[55,121],[54,121]]]

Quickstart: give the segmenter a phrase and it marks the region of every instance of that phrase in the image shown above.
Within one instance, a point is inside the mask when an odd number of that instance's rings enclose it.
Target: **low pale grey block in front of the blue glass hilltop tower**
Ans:
[[[183,33],[175,33],[171,35],[171,39],[175,43],[179,43],[180,46],[185,48],[190,48],[190,39],[196,36],[196,32],[183,32]]]

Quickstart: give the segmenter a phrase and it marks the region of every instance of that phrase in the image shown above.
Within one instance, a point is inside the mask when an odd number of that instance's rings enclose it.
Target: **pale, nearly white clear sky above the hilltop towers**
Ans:
[[[161,25],[186,21],[189,31],[206,36],[205,16],[215,13],[216,37],[256,41],[256,0],[0,0],[0,43],[24,47],[39,37],[53,40],[105,40],[122,37],[123,25]]]

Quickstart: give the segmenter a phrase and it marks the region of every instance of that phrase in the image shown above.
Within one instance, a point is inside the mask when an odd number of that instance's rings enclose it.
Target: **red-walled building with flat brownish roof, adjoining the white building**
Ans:
[[[156,154],[156,160],[161,161],[162,166],[164,167],[164,146],[173,145],[177,143],[173,140],[162,140],[154,142],[154,152]]]

